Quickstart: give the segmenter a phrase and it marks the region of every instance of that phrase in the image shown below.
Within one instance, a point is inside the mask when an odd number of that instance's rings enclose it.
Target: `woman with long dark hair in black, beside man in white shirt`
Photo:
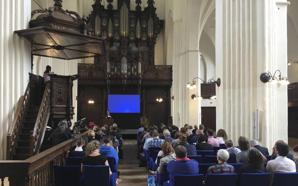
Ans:
[[[266,173],[266,168],[260,151],[252,149],[248,153],[248,159],[248,163],[240,167],[236,182],[237,185],[240,185],[242,173]]]

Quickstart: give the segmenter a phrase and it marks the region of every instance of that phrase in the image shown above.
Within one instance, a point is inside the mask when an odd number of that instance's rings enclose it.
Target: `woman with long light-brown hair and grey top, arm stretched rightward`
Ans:
[[[237,161],[237,163],[246,164],[248,162],[248,153],[249,153],[249,151],[251,151],[252,149],[256,149],[256,148],[250,147],[249,146],[249,140],[244,136],[240,136],[238,138],[238,144],[239,144],[239,149],[241,150],[241,152],[239,152],[236,155],[236,161]],[[261,155],[262,155],[262,158],[263,158],[263,162],[267,162],[266,157],[263,154],[261,154]]]

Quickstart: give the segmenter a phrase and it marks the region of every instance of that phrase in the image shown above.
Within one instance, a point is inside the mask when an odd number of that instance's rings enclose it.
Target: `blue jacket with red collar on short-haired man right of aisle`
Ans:
[[[195,160],[186,160],[170,161],[167,166],[167,171],[169,172],[169,183],[170,186],[174,186],[174,176],[175,174],[198,174],[199,173],[199,164]]]

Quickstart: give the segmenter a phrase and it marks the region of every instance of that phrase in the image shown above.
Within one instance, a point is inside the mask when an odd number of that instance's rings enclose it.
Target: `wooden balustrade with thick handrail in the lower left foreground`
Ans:
[[[27,160],[0,161],[1,186],[8,177],[10,186],[46,186],[54,183],[55,165],[65,165],[66,157],[77,138],[88,134],[89,131],[77,135],[59,145],[36,154]]]

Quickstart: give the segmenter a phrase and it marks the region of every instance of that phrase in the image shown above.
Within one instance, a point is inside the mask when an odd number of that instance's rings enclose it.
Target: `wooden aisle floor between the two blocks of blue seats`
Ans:
[[[146,186],[147,176],[145,167],[139,167],[139,160],[136,158],[138,147],[136,140],[124,140],[122,147],[123,159],[119,160],[118,170],[122,181],[119,186]]]

